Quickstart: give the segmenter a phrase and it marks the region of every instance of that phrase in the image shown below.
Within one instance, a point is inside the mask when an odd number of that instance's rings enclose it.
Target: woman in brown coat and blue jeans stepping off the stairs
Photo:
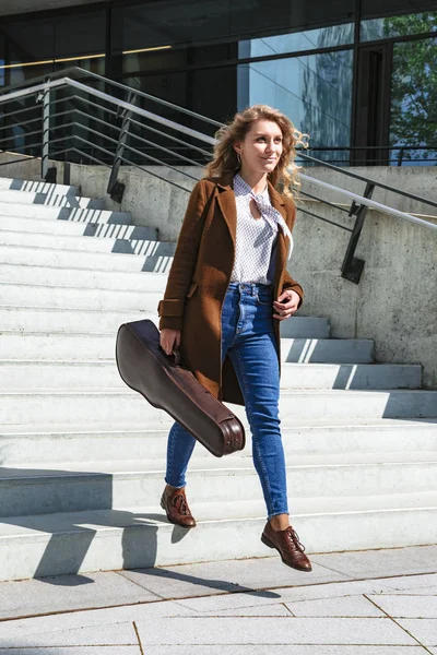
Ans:
[[[279,419],[279,326],[304,295],[285,267],[296,214],[288,188],[297,183],[295,144],[302,134],[280,111],[255,105],[216,136],[210,177],[190,195],[158,306],[161,346],[167,355],[179,347],[216,397],[246,405],[268,512],[261,539],[285,564],[310,571],[288,522]],[[196,525],[185,495],[194,443],[174,424],[161,504],[172,523],[185,527]]]

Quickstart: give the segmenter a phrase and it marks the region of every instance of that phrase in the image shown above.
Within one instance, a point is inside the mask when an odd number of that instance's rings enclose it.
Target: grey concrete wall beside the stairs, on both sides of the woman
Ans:
[[[62,182],[62,166],[58,169],[58,181]],[[352,170],[437,201],[435,167]],[[364,182],[328,169],[311,168],[307,172],[357,193],[364,191]],[[200,169],[194,174],[201,177]],[[38,179],[39,164],[28,160],[10,168],[3,166],[0,175]],[[81,186],[83,195],[105,198],[108,175],[108,169],[72,166],[71,183]],[[193,182],[182,176],[168,175],[187,189],[192,187]],[[127,184],[123,202],[120,205],[108,200],[108,209],[131,211],[135,224],[157,227],[161,239],[176,240],[188,193],[135,169],[123,169],[119,179]],[[308,184],[304,190],[320,194]],[[350,204],[333,193],[322,193],[324,199]],[[304,202],[304,198],[300,207],[352,227],[347,214]],[[406,212],[433,214],[430,207],[388,191],[376,192],[374,200]],[[328,317],[334,337],[375,340],[377,361],[422,364],[424,385],[437,388],[437,231],[369,211],[356,251],[366,262],[359,285],[340,275],[349,233],[300,211],[294,238],[290,269],[306,293],[299,313]]]

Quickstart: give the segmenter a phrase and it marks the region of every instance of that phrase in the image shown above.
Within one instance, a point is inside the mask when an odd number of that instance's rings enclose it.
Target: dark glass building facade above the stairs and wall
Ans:
[[[436,0],[115,0],[2,17],[0,87],[72,66],[218,121],[275,106],[339,164],[436,164]]]

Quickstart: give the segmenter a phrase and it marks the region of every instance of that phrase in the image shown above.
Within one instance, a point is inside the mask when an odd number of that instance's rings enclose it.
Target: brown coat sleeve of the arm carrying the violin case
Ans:
[[[181,330],[185,299],[196,269],[200,239],[203,231],[206,204],[205,184],[200,180],[191,191],[187,211],[180,228],[175,255],[164,298],[160,301],[160,330]]]

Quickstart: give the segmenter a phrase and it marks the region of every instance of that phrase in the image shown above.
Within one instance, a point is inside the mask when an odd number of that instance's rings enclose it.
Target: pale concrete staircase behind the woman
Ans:
[[[158,505],[172,420],[122,383],[115,336],[157,319],[173,252],[74,187],[0,179],[0,580],[271,555],[250,438],[223,460],[197,448],[198,528]],[[437,392],[421,367],[373,364],[370,341],[330,338],[326,319],[282,327],[308,552],[436,543]]]

